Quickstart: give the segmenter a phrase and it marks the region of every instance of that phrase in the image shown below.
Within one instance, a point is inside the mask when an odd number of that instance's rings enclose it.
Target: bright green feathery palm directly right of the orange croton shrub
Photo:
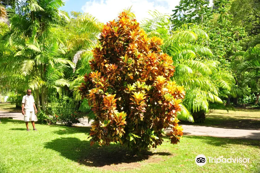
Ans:
[[[204,121],[210,108],[225,108],[218,95],[221,90],[231,91],[235,80],[230,71],[220,69],[219,62],[211,58],[207,33],[192,24],[171,28],[169,16],[157,11],[150,14],[152,19],[144,20],[142,28],[149,36],[155,35],[164,41],[161,49],[174,60],[173,80],[185,86],[183,109],[178,118]]]

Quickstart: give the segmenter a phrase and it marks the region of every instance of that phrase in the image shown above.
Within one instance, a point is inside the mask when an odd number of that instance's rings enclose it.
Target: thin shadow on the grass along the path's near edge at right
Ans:
[[[239,144],[239,145],[247,145],[260,149],[260,141],[259,140],[246,140],[246,139],[230,139],[230,138],[218,138],[218,137],[209,137],[209,136],[185,136],[186,138],[203,140],[203,143],[207,143],[213,146],[222,146],[228,144]]]

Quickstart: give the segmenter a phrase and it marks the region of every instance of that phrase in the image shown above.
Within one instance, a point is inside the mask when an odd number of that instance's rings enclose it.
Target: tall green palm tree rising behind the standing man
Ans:
[[[58,10],[62,5],[61,0],[17,2],[18,14],[10,19],[10,31],[1,37],[4,46],[0,74],[14,83],[25,84],[23,89],[34,89],[39,111],[40,104],[46,111],[49,89],[61,94],[61,87],[69,86],[63,78],[64,71],[74,67],[62,56],[67,48],[60,25],[69,20],[68,14]],[[8,87],[12,82],[7,83]]]

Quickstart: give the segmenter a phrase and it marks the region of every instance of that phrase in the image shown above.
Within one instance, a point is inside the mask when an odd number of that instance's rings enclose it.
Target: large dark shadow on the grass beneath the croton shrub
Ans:
[[[142,156],[131,155],[119,144],[101,147],[97,144],[90,146],[90,142],[78,138],[59,138],[45,144],[49,148],[59,152],[62,156],[90,167],[102,167],[111,164],[133,163],[146,160],[152,155],[172,155],[171,153],[150,151]]]

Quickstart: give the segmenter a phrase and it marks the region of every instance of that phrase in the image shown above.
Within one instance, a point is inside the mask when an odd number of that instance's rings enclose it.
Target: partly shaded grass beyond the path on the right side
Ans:
[[[205,123],[187,123],[187,125],[204,125],[237,129],[260,129],[260,110],[236,108],[236,111],[215,110],[207,115]]]

